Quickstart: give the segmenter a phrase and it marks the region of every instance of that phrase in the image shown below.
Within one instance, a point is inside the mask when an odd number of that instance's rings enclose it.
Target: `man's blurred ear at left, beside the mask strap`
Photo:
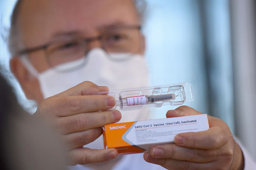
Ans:
[[[35,78],[21,63],[19,57],[12,57],[9,62],[10,69],[14,76],[19,81],[22,90],[26,94],[28,99],[33,99],[36,101],[43,100],[43,95],[40,92],[40,85],[38,79]]]

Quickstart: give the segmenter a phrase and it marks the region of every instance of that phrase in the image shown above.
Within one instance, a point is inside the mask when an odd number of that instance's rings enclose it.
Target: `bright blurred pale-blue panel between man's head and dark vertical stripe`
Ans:
[[[199,1],[147,0],[147,5],[143,32],[151,85],[190,82],[194,101],[185,105],[209,113]],[[156,108],[153,118],[177,107]]]

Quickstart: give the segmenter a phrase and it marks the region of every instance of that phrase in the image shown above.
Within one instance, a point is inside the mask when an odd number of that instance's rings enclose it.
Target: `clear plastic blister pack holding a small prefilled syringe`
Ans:
[[[116,110],[136,110],[142,107],[182,105],[194,100],[190,83],[176,83],[132,89],[110,90],[116,99]]]

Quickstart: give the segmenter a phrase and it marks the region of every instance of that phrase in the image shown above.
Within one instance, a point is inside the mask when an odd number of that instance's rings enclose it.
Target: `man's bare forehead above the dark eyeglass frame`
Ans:
[[[57,32],[97,34],[96,29],[116,23],[139,23],[132,0],[24,0],[20,14],[22,33],[26,37],[44,34],[45,41]]]

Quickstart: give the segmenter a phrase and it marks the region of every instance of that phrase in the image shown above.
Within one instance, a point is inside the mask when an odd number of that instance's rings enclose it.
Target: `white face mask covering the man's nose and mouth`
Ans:
[[[118,55],[118,54],[115,54]],[[38,73],[27,57],[21,57],[21,62],[28,71],[37,77],[44,98],[63,92],[83,81],[91,81],[100,86],[108,86],[109,90],[148,86],[148,71],[145,57],[139,54],[131,56],[130,60],[116,62],[109,60],[107,54],[100,48],[92,49],[87,63],[81,69],[59,73],[55,69],[48,69]],[[118,56],[115,56],[118,57]],[[74,62],[62,64],[58,67],[69,68]],[[141,110],[122,111],[120,122],[131,122],[147,119],[147,108]],[[86,147],[103,148],[102,138],[86,145]]]

